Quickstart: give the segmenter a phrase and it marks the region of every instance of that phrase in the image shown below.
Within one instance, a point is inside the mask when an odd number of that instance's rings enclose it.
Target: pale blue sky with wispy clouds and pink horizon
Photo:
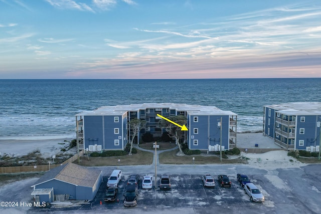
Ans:
[[[0,0],[0,79],[321,77],[319,0]]]

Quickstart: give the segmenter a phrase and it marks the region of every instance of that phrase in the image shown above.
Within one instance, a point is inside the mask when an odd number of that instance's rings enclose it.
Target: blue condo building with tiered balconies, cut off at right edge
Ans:
[[[264,106],[263,134],[287,149],[318,151],[321,103],[296,102]]]

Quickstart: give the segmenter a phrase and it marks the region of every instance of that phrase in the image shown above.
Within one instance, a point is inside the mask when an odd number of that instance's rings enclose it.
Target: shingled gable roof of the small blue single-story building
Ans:
[[[34,187],[49,180],[60,180],[79,186],[91,187],[95,184],[101,170],[87,168],[74,163],[67,163],[46,172],[39,180],[32,185]]]

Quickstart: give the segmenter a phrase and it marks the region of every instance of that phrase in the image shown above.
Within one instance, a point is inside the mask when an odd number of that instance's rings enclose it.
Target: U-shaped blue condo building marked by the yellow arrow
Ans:
[[[236,146],[237,114],[222,111],[215,106],[176,103],[103,106],[93,111],[81,112],[76,115],[77,142],[89,151],[123,150],[132,136],[128,124],[133,118],[146,121],[146,127],[140,130],[135,139],[137,143],[146,132],[150,132],[154,137],[162,136],[165,130],[160,127],[159,121],[162,118],[156,116],[157,114],[164,117],[186,116],[189,131],[185,134],[185,141],[189,148],[206,150],[218,150],[222,118],[222,146],[225,150]],[[198,118],[199,122],[195,118]]]

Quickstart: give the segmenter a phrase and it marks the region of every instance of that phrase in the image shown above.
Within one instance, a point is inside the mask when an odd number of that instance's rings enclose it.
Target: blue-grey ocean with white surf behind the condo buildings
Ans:
[[[0,139],[75,137],[75,114],[106,105],[186,103],[238,114],[238,132],[261,131],[263,106],[321,102],[321,78],[0,80]]]

